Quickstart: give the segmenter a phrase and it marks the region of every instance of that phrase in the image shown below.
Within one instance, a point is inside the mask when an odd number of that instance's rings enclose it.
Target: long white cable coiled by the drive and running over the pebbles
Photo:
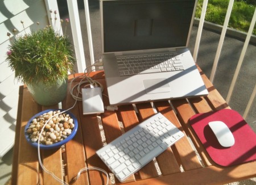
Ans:
[[[91,69],[92,66],[89,66],[88,68]],[[87,68],[86,68],[86,69],[87,69]],[[85,70],[86,70],[86,69],[85,69]],[[98,85],[98,86],[101,87],[101,89],[102,89],[102,91],[103,91],[103,86],[101,85],[101,83],[99,83],[99,82],[93,80],[93,79],[90,78],[90,77],[86,77],[86,73],[84,73],[83,75],[85,75],[85,77],[82,78],[78,84],[76,84],[75,86],[73,86],[72,89],[71,89],[71,84],[72,84],[73,81],[74,81],[76,78],[78,78],[78,77],[73,78],[72,81],[71,81],[71,83],[70,83],[70,85],[69,85],[69,93],[70,93],[70,94],[72,95],[72,97],[76,100],[75,103],[73,104],[73,106],[72,106],[71,108],[68,108],[67,110],[64,110],[64,111],[62,111],[62,112],[56,113],[55,115],[49,117],[49,119],[46,121],[46,123],[44,123],[44,125],[43,125],[43,127],[42,127],[42,130],[41,130],[41,132],[40,132],[40,134],[39,134],[39,138],[38,138],[38,161],[39,161],[40,166],[42,167],[42,169],[43,169],[46,173],[52,175],[52,177],[53,177],[55,180],[57,180],[57,182],[60,182],[60,183],[63,183],[63,184],[68,184],[68,183],[64,182],[63,180],[61,180],[60,178],[58,178],[55,174],[53,174],[51,171],[47,170],[46,167],[44,167],[43,162],[42,162],[42,159],[41,159],[41,155],[40,155],[40,138],[41,138],[41,136],[42,136],[42,133],[43,133],[43,131],[44,131],[44,128],[46,127],[46,124],[49,122],[49,120],[52,119],[52,117],[55,117],[55,116],[57,116],[57,115],[60,115],[61,113],[64,113],[64,112],[67,112],[67,111],[71,110],[72,108],[75,107],[75,105],[76,105],[76,103],[77,103],[77,100],[81,100],[81,99],[82,99],[82,98],[80,98],[80,97],[78,96],[79,94],[81,94],[80,86],[81,86],[82,84],[89,82],[89,84],[87,84],[87,85],[85,85],[85,86],[88,86],[88,85],[97,86],[97,85]],[[89,75],[89,73],[88,73],[88,75]],[[81,75],[80,75],[79,77],[81,77]],[[86,79],[86,80],[84,81],[84,79]],[[75,89],[76,86],[77,86],[77,94],[76,94],[76,95],[73,95],[73,90]],[[77,179],[79,178],[79,176],[81,175],[82,172],[88,171],[88,170],[98,170],[98,171],[101,171],[102,173],[104,173],[104,174],[107,176],[107,182],[106,182],[106,184],[109,183],[109,175],[108,175],[108,173],[107,173],[105,170],[100,169],[100,168],[98,168],[98,167],[94,167],[94,166],[92,166],[92,167],[84,167],[83,169],[81,169],[81,170],[79,171],[79,173],[77,173],[77,176],[76,176],[75,180],[77,180]]]

